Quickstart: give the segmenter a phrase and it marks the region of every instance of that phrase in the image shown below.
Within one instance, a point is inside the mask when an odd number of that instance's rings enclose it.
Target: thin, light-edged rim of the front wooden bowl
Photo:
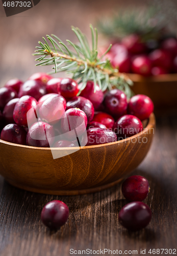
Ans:
[[[130,141],[134,138],[137,138],[137,137],[145,134],[145,132],[149,131],[152,127],[155,126],[156,118],[155,118],[154,113],[151,113],[151,115],[149,116],[149,118],[147,120],[148,120],[147,125],[143,129],[143,131],[134,135],[134,136],[131,136],[127,139],[115,141],[115,142],[99,144],[99,145],[92,145],[92,146],[84,146],[84,147],[81,147],[80,150],[85,150],[85,149],[95,148],[95,147],[109,146],[109,145],[114,145],[114,144],[120,144],[120,143],[123,143],[123,142]],[[15,147],[31,148],[31,149],[34,149],[34,150],[50,150],[50,151],[51,150],[71,150],[71,151],[72,150],[78,150],[78,146],[77,147],[36,147],[36,146],[27,146],[27,145],[15,144],[15,143],[7,142],[7,141],[4,141],[4,140],[0,139],[0,144],[1,143],[6,144],[6,145],[15,146]]]

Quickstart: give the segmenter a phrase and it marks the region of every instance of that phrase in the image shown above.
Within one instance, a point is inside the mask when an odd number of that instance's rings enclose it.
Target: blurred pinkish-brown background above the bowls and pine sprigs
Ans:
[[[167,22],[176,18],[176,1],[142,0],[41,0],[34,8],[20,14],[6,17],[0,5],[0,87],[11,78],[26,80],[39,71],[50,71],[51,67],[35,67],[32,53],[38,41],[46,34],[56,34],[61,39],[75,42],[71,25],[79,27],[90,38],[89,24],[94,26],[99,19],[111,17],[116,11],[128,7],[146,8],[151,4],[161,6]],[[102,36],[99,44],[102,45]]]

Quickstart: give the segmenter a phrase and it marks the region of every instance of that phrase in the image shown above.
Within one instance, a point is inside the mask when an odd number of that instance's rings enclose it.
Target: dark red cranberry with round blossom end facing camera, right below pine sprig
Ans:
[[[113,117],[120,117],[127,111],[127,96],[120,90],[108,92],[104,99],[105,109]]]

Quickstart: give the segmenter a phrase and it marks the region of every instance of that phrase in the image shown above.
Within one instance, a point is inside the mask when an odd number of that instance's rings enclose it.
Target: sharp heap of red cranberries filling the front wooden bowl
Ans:
[[[154,110],[145,95],[128,103],[120,90],[94,91],[93,81],[77,96],[79,90],[77,81],[45,73],[9,80],[0,89],[1,139],[37,147],[104,144],[141,132]]]

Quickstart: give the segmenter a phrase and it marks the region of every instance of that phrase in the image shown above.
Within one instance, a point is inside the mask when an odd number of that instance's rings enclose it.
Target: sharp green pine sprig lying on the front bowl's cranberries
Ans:
[[[36,66],[53,65],[54,71],[49,74],[61,71],[72,74],[74,80],[82,83],[81,91],[86,87],[87,81],[92,80],[95,90],[96,84],[103,91],[107,88],[111,89],[114,86],[124,91],[128,98],[130,98],[130,86],[132,86],[130,78],[125,74],[119,73],[117,69],[113,69],[108,59],[103,60],[103,57],[109,52],[112,45],[110,45],[102,56],[98,57],[97,30],[92,25],[90,25],[90,29],[92,38],[91,47],[87,37],[79,28],[72,27],[72,31],[77,36],[79,44],[73,44],[70,40],[66,40],[66,45],[55,35],[47,35],[48,40],[43,37],[44,43],[39,41],[40,46],[36,47],[37,50],[34,54],[40,56],[36,59],[39,61]]]

